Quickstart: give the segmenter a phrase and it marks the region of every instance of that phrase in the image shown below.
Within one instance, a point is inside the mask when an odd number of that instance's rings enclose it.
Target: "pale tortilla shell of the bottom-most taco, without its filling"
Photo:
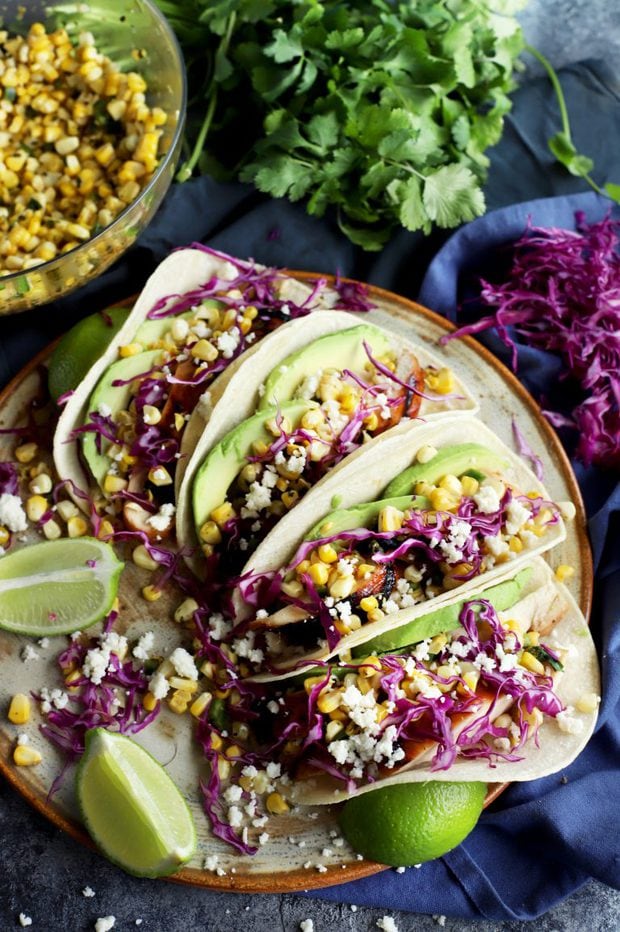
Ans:
[[[574,709],[582,696],[600,695],[600,674],[596,648],[586,620],[577,603],[565,586],[556,582],[542,559],[536,561],[535,578],[538,588],[529,592],[513,608],[499,612],[500,618],[523,619],[543,630],[560,617],[544,642],[553,649],[564,649],[564,670],[557,674],[554,691],[565,708]],[[472,596],[474,598],[475,596]],[[395,653],[398,653],[396,651]],[[404,653],[404,652],[402,652]],[[509,708],[511,703],[498,703],[496,715]],[[570,713],[572,715],[572,713]],[[423,757],[412,761],[374,783],[367,783],[353,792],[342,784],[319,774],[316,778],[299,780],[293,785],[293,798],[297,804],[321,805],[341,802],[367,793],[377,787],[401,783],[425,783],[429,780],[481,780],[485,783],[536,780],[562,770],[583,750],[596,725],[598,711],[575,712],[575,733],[562,731],[555,719],[546,717],[537,738],[526,743],[519,751],[520,761],[499,761],[490,765],[487,760],[457,760],[448,770],[431,770],[431,759],[436,746]]]

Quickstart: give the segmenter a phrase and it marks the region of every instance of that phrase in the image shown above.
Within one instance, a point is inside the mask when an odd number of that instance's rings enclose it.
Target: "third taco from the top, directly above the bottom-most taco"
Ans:
[[[572,503],[552,502],[475,418],[399,425],[310,492],[244,568],[229,635],[242,673],[342,656],[456,590],[513,576],[564,539],[563,513]]]

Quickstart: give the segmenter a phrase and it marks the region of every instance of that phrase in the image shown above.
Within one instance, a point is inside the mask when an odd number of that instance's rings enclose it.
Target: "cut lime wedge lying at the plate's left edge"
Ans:
[[[83,631],[111,610],[123,566],[93,537],[7,554],[0,558],[0,628],[31,637]]]

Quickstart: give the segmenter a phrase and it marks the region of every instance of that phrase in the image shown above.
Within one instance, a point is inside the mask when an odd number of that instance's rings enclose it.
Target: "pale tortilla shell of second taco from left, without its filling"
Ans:
[[[354,315],[322,308],[320,313],[289,321],[264,337],[250,352],[235,360],[205,392],[204,400],[192,414],[183,435],[182,458],[179,460],[175,481],[177,539],[180,546],[195,551],[187,558],[187,562],[197,575],[201,573],[203,559],[194,528],[192,486],[205,457],[227,433],[255,413],[260,401],[260,387],[279,363],[319,337],[348,330],[365,322],[363,314]],[[432,366],[439,369],[444,365],[443,360],[400,334],[385,330],[384,333],[389,337],[395,352],[413,353],[422,368]],[[417,423],[421,425],[424,421],[435,422],[439,418],[453,417],[456,411],[470,414],[477,411],[477,402],[460,380],[455,381],[453,394],[458,397],[446,398],[443,402],[423,399]]]

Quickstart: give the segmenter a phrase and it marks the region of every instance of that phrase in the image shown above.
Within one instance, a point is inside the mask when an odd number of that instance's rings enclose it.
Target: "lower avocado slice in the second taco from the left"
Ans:
[[[246,465],[247,457],[252,455],[252,445],[261,440],[273,442],[274,437],[268,432],[265,422],[280,413],[295,428],[309,407],[310,403],[302,400],[258,411],[238,424],[210,450],[194,479],[192,499],[197,528],[201,528],[213,509],[225,500],[228,487]]]

